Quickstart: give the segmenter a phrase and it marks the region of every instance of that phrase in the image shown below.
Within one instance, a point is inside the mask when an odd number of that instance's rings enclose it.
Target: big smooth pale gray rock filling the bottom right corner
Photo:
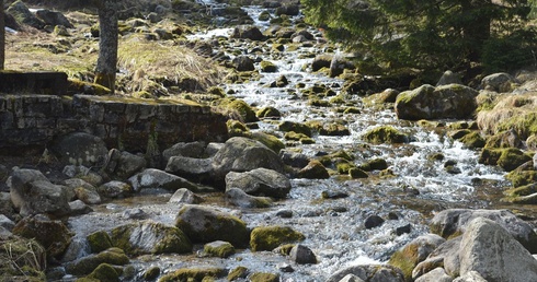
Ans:
[[[537,260],[502,225],[484,218],[468,223],[460,243],[460,275],[477,271],[491,282],[537,281]]]

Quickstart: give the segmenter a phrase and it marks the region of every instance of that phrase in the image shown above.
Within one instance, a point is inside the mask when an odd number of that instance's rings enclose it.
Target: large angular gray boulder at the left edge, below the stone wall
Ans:
[[[16,169],[8,179],[11,201],[22,216],[70,212],[67,187],[52,184],[39,171]]]

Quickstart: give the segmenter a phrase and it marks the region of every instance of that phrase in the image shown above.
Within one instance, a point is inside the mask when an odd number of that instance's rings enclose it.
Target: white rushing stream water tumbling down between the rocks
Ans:
[[[261,10],[259,7],[245,8],[254,20]],[[266,25],[260,23],[260,26],[263,28]],[[201,32],[191,39],[210,40],[214,36],[229,36],[230,32],[229,28]],[[311,32],[320,36],[318,32]],[[230,40],[229,45],[249,49],[248,44],[240,40]],[[368,179],[361,180],[338,176],[325,180],[293,179],[293,189],[287,199],[275,202],[273,208],[260,210],[241,210],[222,202],[221,195],[204,195],[207,199],[204,204],[239,215],[249,227],[289,225],[304,233],[307,236],[304,245],[315,251],[319,260],[317,265],[294,265],[281,255],[267,251],[253,254],[244,249],[228,259],[203,258],[196,252],[190,256],[145,256],[133,260],[138,270],[150,266],[160,266],[164,272],[183,267],[220,266],[233,269],[244,266],[252,271],[279,273],[282,281],[323,281],[346,266],[386,262],[397,248],[427,232],[427,219],[436,211],[447,208],[499,207],[498,195],[505,185],[503,173],[495,167],[478,164],[478,152],[465,149],[459,142],[447,138],[442,129],[424,128],[414,122],[398,120],[390,108],[373,109],[363,106],[359,96],[351,96],[346,103],[359,107],[361,114],[343,115],[331,107],[308,106],[307,97],[301,97],[296,87],[297,83],[305,83],[306,87],[316,83],[325,84],[336,92],[343,85],[343,81],[339,79],[315,74],[307,69],[305,71],[304,66],[309,66],[312,60],[307,58],[311,57],[308,55],[323,52],[324,46],[320,44],[298,48],[296,51],[264,51],[252,55],[273,61],[278,67],[278,72],[262,73],[259,81],[222,86],[233,90],[236,97],[259,108],[277,108],[282,113],[282,120],[343,122],[350,129],[350,136],[315,136],[315,144],[300,144],[296,149],[310,156],[320,152],[345,150],[355,156],[356,164],[381,157],[388,162],[395,176],[382,178],[378,173],[373,173]],[[262,48],[270,49],[270,46]],[[266,87],[279,75],[288,79],[288,86]],[[362,141],[366,130],[381,125],[391,125],[410,134],[411,142],[373,145]],[[277,125],[273,121],[260,121],[259,127],[259,130],[277,133]],[[442,153],[445,161],[455,161],[458,173],[448,173],[443,162],[429,160],[427,156],[434,153]],[[349,197],[322,199],[321,192],[325,190],[345,192]],[[130,221],[122,215],[128,209],[141,209],[151,220],[173,224],[181,207],[167,203],[170,196],[162,192],[117,200],[96,207],[94,213],[73,218],[69,223],[77,231],[77,238]],[[293,216],[277,216],[276,213],[281,210],[293,211]],[[379,227],[365,228],[364,222],[372,214],[380,215],[386,222]],[[398,227],[409,224],[409,233],[397,234]],[[295,271],[278,271],[282,263],[292,265]]]

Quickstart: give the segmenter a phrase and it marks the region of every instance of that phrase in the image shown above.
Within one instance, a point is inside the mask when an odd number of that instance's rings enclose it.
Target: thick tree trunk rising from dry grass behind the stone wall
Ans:
[[[100,0],[99,9],[99,59],[95,68],[95,83],[115,89],[117,70],[117,0]]]

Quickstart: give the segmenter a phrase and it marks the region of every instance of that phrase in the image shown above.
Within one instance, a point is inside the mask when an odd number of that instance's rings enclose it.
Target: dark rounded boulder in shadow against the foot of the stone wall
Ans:
[[[59,138],[53,143],[52,151],[66,164],[88,167],[103,165],[108,154],[102,139],[85,132],[69,133]]]

